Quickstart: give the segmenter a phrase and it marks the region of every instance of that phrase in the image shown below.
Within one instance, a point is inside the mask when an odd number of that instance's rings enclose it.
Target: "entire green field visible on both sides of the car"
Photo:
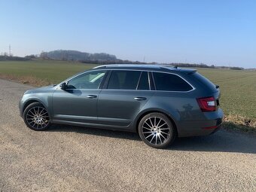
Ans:
[[[0,78],[9,78],[27,84],[56,84],[96,66],[78,62],[34,60],[27,62],[0,62]],[[221,88],[221,108],[233,120],[256,120],[256,72],[230,69],[197,69]],[[27,79],[27,80],[26,80]],[[38,83],[39,82],[39,83]],[[232,119],[231,119],[232,120]],[[241,122],[242,123],[242,122]],[[246,123],[245,123],[246,124]],[[253,124],[253,125],[254,125]]]

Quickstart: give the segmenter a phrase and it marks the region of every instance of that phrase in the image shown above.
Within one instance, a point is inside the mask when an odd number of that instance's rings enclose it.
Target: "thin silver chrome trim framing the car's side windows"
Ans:
[[[80,73],[80,74],[78,74],[78,75],[76,75],[75,77],[72,77],[72,78],[69,78],[69,79],[67,79],[66,81],[62,81],[60,84],[62,84],[62,83],[67,83],[68,81],[70,81],[70,80],[72,80],[73,78],[76,78],[76,77],[78,77],[79,75],[84,75],[84,74],[86,74],[86,73],[88,73],[88,72],[97,72],[97,71],[105,71],[105,72],[107,72],[107,71],[137,71],[137,72],[160,72],[160,71],[155,71],[155,70],[152,70],[152,69],[143,69],[143,70],[141,70],[141,69],[92,69],[92,70],[90,70],[90,71],[87,71],[87,72],[82,72],[82,73]],[[184,79],[184,78],[182,78],[180,75],[178,75],[178,74],[175,74],[175,73],[173,73],[173,72],[160,72],[160,73],[166,73],[166,74],[171,74],[171,75],[177,75],[179,78],[181,78],[181,79],[183,79],[185,82],[187,82],[187,84],[189,84],[191,87],[192,87],[192,90],[186,90],[186,91],[183,91],[183,90],[136,90],[136,91],[160,91],[160,92],[171,92],[171,93],[189,93],[189,92],[191,92],[191,91],[194,91],[194,90],[196,90],[196,88],[192,85],[192,84],[190,84],[186,79]],[[153,74],[152,74],[153,75]],[[153,75],[154,76],[154,75]],[[149,78],[149,74],[148,74],[148,78]],[[153,77],[153,81],[154,81],[154,77]],[[150,80],[149,80],[149,84],[150,84],[151,82],[150,82]],[[59,84],[59,85],[60,85]],[[58,88],[60,88],[59,86],[58,86]],[[150,87],[151,88],[151,87]],[[157,87],[156,87],[157,88]],[[67,89],[67,90],[113,90],[113,89]]]

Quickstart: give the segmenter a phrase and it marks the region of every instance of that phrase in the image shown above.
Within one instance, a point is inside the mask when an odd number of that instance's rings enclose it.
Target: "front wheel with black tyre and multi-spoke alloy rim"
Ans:
[[[29,104],[23,112],[23,120],[31,130],[47,130],[50,126],[49,114],[40,102]]]

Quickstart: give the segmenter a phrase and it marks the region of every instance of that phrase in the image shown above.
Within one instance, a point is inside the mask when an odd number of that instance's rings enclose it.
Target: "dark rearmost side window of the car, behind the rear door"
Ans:
[[[153,72],[157,90],[188,91],[193,88],[184,79],[169,73]]]

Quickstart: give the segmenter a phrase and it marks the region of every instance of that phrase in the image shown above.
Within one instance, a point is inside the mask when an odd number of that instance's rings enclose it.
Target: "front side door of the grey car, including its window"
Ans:
[[[66,82],[66,89],[53,93],[53,119],[96,123],[97,101],[106,71],[85,72]]]

